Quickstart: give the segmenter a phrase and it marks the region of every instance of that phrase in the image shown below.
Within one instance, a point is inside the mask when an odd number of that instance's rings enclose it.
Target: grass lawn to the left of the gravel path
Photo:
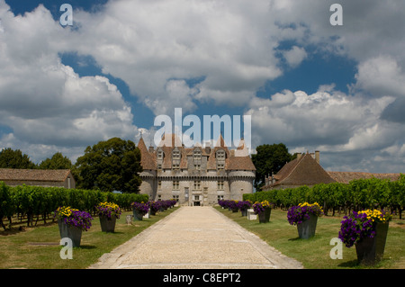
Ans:
[[[177,208],[158,212],[157,215],[141,221],[132,221],[127,225],[125,216],[131,211],[123,212],[117,220],[115,232],[101,231],[100,220],[95,217],[92,227],[83,231],[80,247],[73,248],[73,258],[61,259],[59,231],[57,223],[50,223],[21,231],[18,227],[0,231],[0,268],[30,269],[82,269],[94,264],[104,253],[111,252],[130,238],[147,229],[158,220]]]

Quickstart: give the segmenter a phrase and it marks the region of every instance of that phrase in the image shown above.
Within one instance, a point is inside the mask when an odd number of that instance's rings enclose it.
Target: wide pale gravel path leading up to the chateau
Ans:
[[[302,268],[212,207],[184,206],[145,229],[89,268]]]

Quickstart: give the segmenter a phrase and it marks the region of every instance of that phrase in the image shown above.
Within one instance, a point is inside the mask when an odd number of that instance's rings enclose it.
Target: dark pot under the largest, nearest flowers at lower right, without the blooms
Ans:
[[[362,238],[356,243],[357,261],[360,265],[375,265],[383,259],[389,222],[374,224],[374,238]]]

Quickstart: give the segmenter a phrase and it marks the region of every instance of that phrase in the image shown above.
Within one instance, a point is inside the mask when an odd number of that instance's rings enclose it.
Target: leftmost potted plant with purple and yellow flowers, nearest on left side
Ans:
[[[92,226],[90,213],[62,206],[54,212],[54,217],[58,219],[60,238],[70,238],[72,247],[80,247],[82,231]]]

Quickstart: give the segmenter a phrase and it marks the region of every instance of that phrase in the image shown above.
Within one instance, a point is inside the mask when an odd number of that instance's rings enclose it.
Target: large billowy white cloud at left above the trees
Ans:
[[[0,124],[13,130],[2,148],[14,143],[38,158],[56,147],[83,151],[98,140],[134,138],[133,115],[117,87],[60,62],[67,30],[45,7],[15,16],[0,6]]]

